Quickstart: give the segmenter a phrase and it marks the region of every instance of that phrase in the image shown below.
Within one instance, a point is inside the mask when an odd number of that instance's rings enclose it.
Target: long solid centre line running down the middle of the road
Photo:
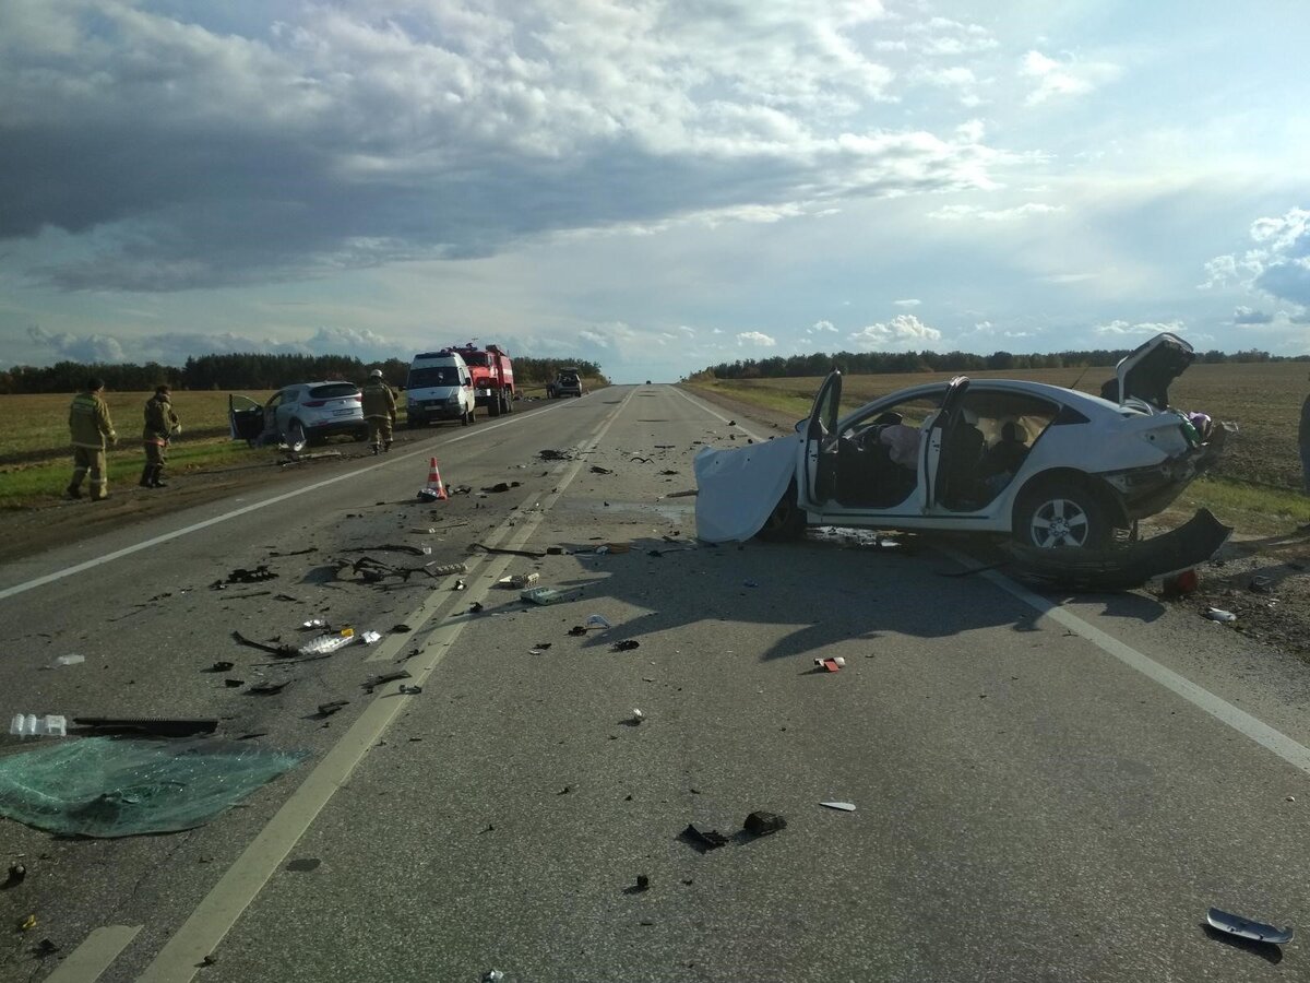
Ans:
[[[624,398],[609,418],[596,429],[596,433],[588,440],[588,448],[593,448],[604,439],[609,427],[618,419],[618,415],[630,401],[631,392],[629,392],[627,397]],[[549,497],[544,495],[541,501],[554,503],[559,498],[559,494],[578,476],[583,464],[582,455],[579,455],[579,460],[565,472],[557,489]],[[534,499],[536,497],[533,497]],[[510,539],[508,547],[515,549],[521,547],[528,541],[533,531],[536,531],[542,518],[545,518],[546,511],[546,509],[534,511],[532,519],[527,522],[520,519],[517,526],[511,527],[508,522],[503,523],[495,531],[495,539],[489,540],[487,545],[498,544],[512,530],[514,535]],[[520,507],[515,515],[517,516],[521,512],[523,509]],[[470,588],[468,592],[461,592],[461,596],[468,598],[469,603],[486,596],[495,578],[508,566],[511,558],[510,556],[494,557],[493,562],[489,562],[486,568],[481,568],[482,571],[489,574],[481,581],[481,586]],[[413,619],[415,628],[422,626],[418,616],[424,607],[421,606],[414,615],[406,619],[406,623]],[[428,612],[428,617],[432,611]],[[434,630],[423,647],[423,653],[410,661],[410,675],[413,679],[405,680],[406,684],[423,685],[451,650],[466,624],[469,624],[469,619],[461,617],[443,624]],[[223,941],[224,936],[227,936],[232,925],[241,917],[241,914],[258,896],[259,891],[263,890],[269,878],[278,870],[282,861],[287,858],[287,855],[291,853],[310,823],[313,823],[324,806],[328,805],[328,801],[335,794],[337,789],[350,779],[351,773],[368,752],[368,748],[377,743],[386,731],[386,727],[411,699],[400,695],[390,684],[379,689],[379,696],[364,708],[350,730],[328,751],[300,786],[291,793],[291,798],[283,803],[282,809],[278,810],[250,845],[246,847],[245,852],[228,868],[214,890],[204,896],[190,917],[187,917],[177,933],[159,952],[155,961],[138,978],[138,983],[187,983],[187,980],[195,976],[196,967],[202,959],[212,953],[219,942]]]

